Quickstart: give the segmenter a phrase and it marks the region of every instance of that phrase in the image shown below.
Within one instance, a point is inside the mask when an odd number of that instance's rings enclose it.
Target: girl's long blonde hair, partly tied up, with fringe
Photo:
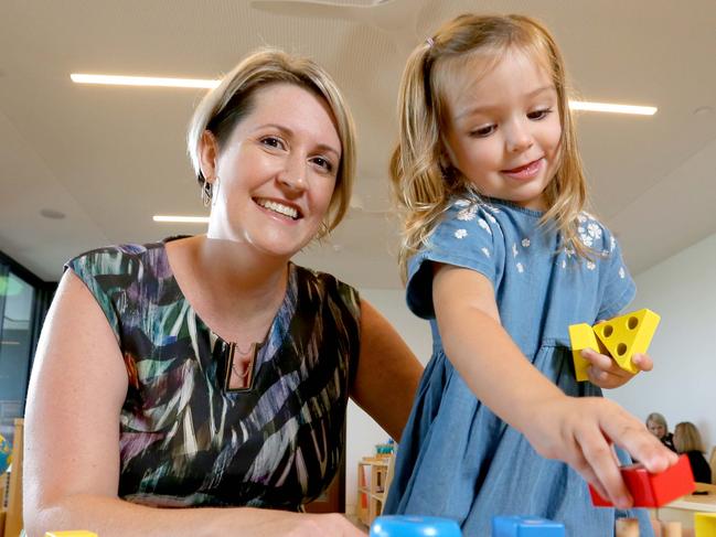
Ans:
[[[403,224],[398,258],[404,279],[407,260],[425,246],[450,198],[467,191],[479,194],[447,161],[440,135],[448,120],[446,88],[455,72],[469,67],[475,57],[488,57],[494,65],[514,49],[544,64],[558,97],[559,163],[545,190],[549,208],[541,222],[554,223],[563,234],[563,246],[585,257],[589,254],[578,240],[577,215],[586,205],[587,186],[569,111],[564,61],[554,37],[528,17],[463,14],[413,51],[403,73],[399,139],[391,159],[391,179]]]

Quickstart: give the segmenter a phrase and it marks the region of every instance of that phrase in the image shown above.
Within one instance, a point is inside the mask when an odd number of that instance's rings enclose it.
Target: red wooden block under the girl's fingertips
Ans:
[[[634,498],[634,507],[661,507],[677,497],[691,494],[696,488],[694,474],[686,455],[664,472],[652,474],[642,464],[621,468],[621,476]],[[591,503],[597,507],[611,507],[612,503],[602,498],[589,485]]]

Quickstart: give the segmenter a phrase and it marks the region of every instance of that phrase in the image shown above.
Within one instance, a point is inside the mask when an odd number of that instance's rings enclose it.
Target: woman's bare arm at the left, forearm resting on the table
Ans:
[[[162,509],[119,500],[119,412],[127,383],[109,323],[68,270],[45,321],[30,382],[23,468],[29,537],[62,529],[90,529],[101,537],[365,536],[340,515]]]

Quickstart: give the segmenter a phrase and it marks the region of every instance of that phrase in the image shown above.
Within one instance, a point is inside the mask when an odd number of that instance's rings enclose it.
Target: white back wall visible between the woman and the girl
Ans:
[[[361,296],[371,302],[400,333],[424,364],[430,358],[432,339],[427,321],[415,316],[405,304],[405,291],[396,289],[361,289]],[[353,401],[348,410],[348,447],[345,511],[354,513],[357,488],[357,462],[375,453],[375,444],[388,439],[373,419]],[[396,439],[397,440],[397,439]]]

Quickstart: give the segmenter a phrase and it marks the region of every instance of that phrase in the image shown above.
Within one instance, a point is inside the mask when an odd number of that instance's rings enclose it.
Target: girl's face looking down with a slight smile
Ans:
[[[545,211],[559,160],[562,122],[549,73],[520,51],[493,68],[475,58],[447,90],[451,164],[482,195]]]

